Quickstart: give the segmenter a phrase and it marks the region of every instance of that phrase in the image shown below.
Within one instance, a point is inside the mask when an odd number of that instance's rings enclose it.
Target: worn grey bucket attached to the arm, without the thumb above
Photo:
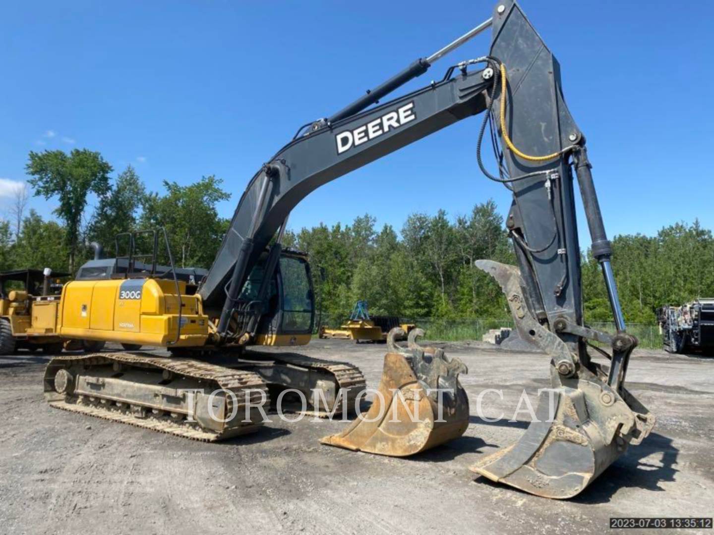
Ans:
[[[625,399],[587,380],[541,392],[536,419],[521,439],[471,470],[537,496],[572,498],[625,452],[621,433],[637,434],[630,442],[639,444],[654,424],[633,415]]]

